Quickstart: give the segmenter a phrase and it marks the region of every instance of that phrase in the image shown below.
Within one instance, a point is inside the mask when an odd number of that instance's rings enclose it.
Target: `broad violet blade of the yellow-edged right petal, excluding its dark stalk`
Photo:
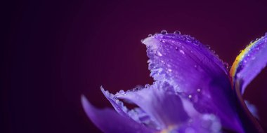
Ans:
[[[267,63],[267,34],[250,43],[238,55],[230,69],[233,85],[240,82],[240,91],[243,94],[249,83],[261,72]]]

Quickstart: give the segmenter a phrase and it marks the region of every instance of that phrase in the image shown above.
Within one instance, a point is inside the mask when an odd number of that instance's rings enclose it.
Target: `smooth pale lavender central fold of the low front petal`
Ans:
[[[115,97],[139,106],[148,116],[155,119],[160,130],[188,120],[180,97],[168,83],[156,82],[141,90],[117,93]]]

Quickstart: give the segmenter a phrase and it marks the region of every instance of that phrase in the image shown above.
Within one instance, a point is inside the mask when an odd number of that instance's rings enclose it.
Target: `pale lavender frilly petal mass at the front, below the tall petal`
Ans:
[[[103,93],[119,114],[157,132],[221,132],[219,118],[196,111],[190,99],[182,98],[167,82],[157,81],[138,90],[119,91],[115,95],[104,90]],[[119,99],[136,104],[138,108],[129,110]],[[143,120],[144,116],[146,120]]]

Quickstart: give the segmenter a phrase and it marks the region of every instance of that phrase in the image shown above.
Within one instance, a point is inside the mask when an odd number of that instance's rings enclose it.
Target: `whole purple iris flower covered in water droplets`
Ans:
[[[103,132],[263,132],[242,99],[245,87],[266,66],[267,34],[252,41],[228,71],[209,47],[180,32],[148,36],[152,85],[111,94],[112,109],[82,105]],[[136,107],[129,109],[124,104]],[[252,106],[253,107],[253,106]],[[252,108],[253,109],[253,108]]]

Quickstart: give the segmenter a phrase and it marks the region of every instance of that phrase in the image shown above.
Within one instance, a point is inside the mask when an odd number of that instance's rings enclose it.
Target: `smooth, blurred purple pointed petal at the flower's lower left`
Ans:
[[[120,116],[111,109],[100,110],[94,108],[84,96],[82,96],[82,106],[87,116],[103,132],[152,132],[145,126]]]

